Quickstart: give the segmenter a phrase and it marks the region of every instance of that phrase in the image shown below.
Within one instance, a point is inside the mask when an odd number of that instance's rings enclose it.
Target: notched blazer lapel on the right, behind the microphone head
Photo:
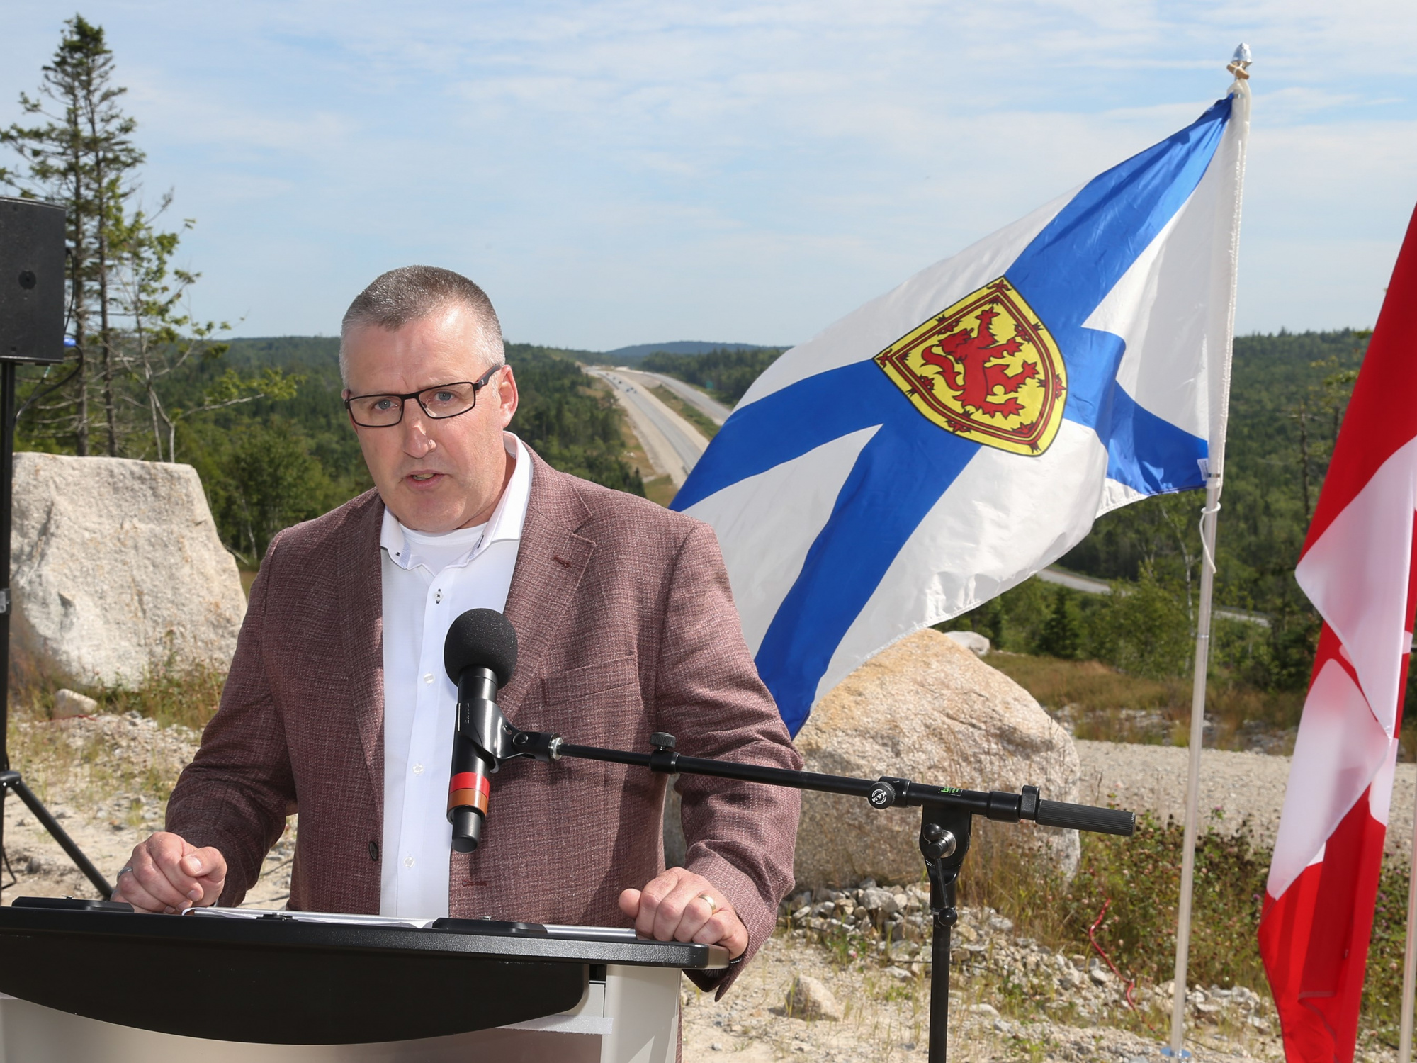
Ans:
[[[506,608],[517,632],[517,675],[499,697],[503,709],[520,704],[536,682],[561,615],[585,574],[595,544],[575,530],[589,514],[571,478],[533,454],[531,499]]]

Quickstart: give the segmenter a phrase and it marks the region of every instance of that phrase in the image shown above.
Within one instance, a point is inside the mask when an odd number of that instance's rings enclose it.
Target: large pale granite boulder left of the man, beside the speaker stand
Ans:
[[[231,663],[247,600],[190,465],[17,454],[10,550],[14,652],[45,679]]]

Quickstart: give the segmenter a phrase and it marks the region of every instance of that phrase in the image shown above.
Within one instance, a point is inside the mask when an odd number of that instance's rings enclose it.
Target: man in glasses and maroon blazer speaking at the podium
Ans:
[[[374,489],[278,534],[221,707],[115,900],[239,904],[299,812],[289,907],[625,924],[723,944],[772,931],[792,884],[795,789],[683,777],[684,867],[663,867],[663,777],[509,761],[482,845],[451,849],[456,687],[444,638],[503,611],[523,730],[799,768],[743,641],[714,533],[557,472],[507,431],[517,383],[487,296],[408,266],[350,305],[344,403]],[[738,967],[718,975],[726,988]]]

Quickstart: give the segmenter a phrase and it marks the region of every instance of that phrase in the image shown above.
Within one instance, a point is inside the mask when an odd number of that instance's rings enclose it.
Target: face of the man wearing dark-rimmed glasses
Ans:
[[[438,384],[478,380],[490,364],[478,346],[478,323],[463,306],[390,332],[378,326],[344,333],[349,373],[344,397],[402,395]],[[504,367],[478,391],[465,414],[431,418],[415,400],[387,428],[356,425],[374,486],[394,516],[415,532],[451,532],[492,516],[512,469],[502,431],[517,408],[517,384]]]

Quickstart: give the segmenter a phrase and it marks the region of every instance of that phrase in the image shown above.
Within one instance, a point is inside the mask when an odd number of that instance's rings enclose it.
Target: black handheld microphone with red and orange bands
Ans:
[[[497,689],[517,670],[517,632],[496,609],[468,609],[448,628],[444,668],[458,685],[458,724],[452,736],[448,822],[453,852],[470,853],[482,842],[492,780],[506,757]]]

